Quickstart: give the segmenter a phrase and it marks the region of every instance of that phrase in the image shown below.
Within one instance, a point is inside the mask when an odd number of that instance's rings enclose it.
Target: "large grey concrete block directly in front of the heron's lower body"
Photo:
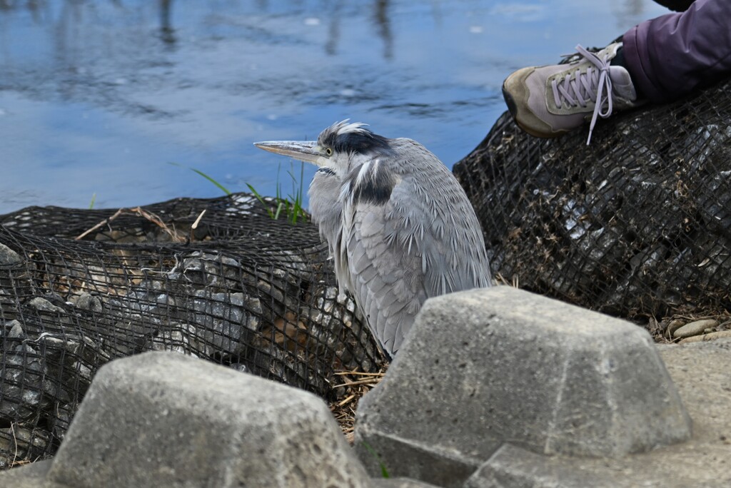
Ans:
[[[371,473],[378,463],[364,441],[394,476],[459,486],[466,476],[457,473],[469,476],[506,442],[618,457],[690,432],[644,329],[499,286],[425,303],[386,377],[361,400],[355,439]]]

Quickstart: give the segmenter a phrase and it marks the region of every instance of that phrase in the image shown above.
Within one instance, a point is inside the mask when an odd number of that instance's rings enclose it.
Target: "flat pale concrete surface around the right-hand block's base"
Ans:
[[[603,459],[548,457],[505,445],[465,487],[731,487],[731,340],[658,348],[694,419],[689,441]]]

